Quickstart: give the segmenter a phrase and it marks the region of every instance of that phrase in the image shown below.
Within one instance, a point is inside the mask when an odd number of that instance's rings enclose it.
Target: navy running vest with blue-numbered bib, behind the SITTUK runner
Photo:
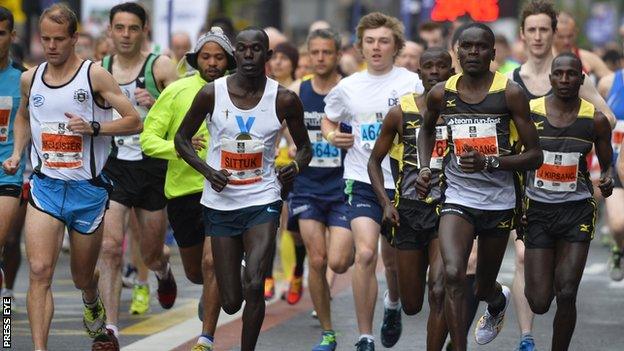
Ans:
[[[310,77],[311,78],[311,77]],[[312,88],[312,79],[301,82],[299,98],[303,103],[304,121],[312,143],[312,161],[295,178],[293,194],[310,195],[323,199],[342,199],[344,168],[342,150],[329,144],[321,133],[321,118],[325,114],[325,96]]]

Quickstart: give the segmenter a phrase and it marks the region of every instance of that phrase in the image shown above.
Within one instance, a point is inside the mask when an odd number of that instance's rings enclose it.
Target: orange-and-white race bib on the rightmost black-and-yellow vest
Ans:
[[[544,150],[544,163],[535,171],[533,185],[539,189],[558,192],[576,190],[578,152],[550,152]]]

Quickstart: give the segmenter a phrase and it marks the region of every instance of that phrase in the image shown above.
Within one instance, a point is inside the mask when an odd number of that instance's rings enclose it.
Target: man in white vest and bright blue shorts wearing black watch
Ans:
[[[141,121],[112,76],[74,52],[78,20],[66,5],[43,11],[39,27],[46,62],[22,75],[22,99],[15,118],[13,154],[4,171],[15,174],[32,136],[34,166],[26,216],[30,265],[28,318],[35,350],[47,348],[54,313],[52,277],[65,227],[70,232],[71,271],[82,291],[84,326],[94,347],[118,349],[105,329],[95,265],[102,243],[102,218],[111,188],[102,168],[111,135],[141,131]],[[112,120],[112,108],[122,118]]]

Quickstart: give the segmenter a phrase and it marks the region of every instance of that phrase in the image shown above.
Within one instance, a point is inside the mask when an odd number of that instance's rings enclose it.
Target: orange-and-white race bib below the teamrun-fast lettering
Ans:
[[[451,131],[455,155],[461,155],[466,146],[471,146],[486,156],[498,156],[496,123],[455,124]]]

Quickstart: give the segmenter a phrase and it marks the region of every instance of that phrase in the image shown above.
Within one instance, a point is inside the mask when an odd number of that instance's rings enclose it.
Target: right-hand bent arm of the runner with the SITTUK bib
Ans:
[[[280,88],[277,94],[277,114],[282,122],[286,122],[288,132],[297,147],[294,164],[282,167],[279,172],[282,184],[289,184],[298,173],[308,167],[312,159],[312,144],[303,121],[303,105],[294,92]]]

